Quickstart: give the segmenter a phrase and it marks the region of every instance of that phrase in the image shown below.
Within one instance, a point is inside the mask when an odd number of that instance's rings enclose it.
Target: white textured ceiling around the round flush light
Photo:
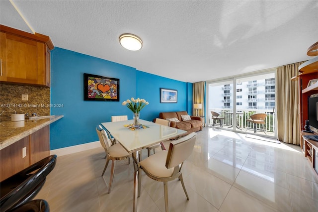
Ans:
[[[214,80],[308,60],[318,1],[13,0],[55,46],[183,81]],[[0,23],[31,32],[7,0]],[[124,49],[119,35],[143,40]]]

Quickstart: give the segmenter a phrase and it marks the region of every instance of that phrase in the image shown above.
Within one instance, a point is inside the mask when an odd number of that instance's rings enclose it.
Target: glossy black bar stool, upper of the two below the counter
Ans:
[[[43,187],[47,175],[54,169],[56,158],[56,155],[46,157],[3,180],[0,183],[1,212],[14,211],[31,201]]]

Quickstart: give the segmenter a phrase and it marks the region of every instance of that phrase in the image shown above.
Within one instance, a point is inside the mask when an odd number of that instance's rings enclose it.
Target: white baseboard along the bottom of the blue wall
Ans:
[[[84,143],[84,144],[79,144],[76,146],[69,146],[69,147],[64,147],[60,149],[54,149],[50,151],[50,155],[57,155],[57,156],[63,156],[63,155],[68,155],[72,153],[77,153],[81,151],[85,151],[88,149],[94,149],[97,147],[101,147],[99,141],[94,141],[90,143]]]

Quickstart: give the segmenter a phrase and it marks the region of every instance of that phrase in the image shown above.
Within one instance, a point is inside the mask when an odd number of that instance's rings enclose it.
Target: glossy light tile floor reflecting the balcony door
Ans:
[[[51,212],[131,212],[133,166],[117,161],[108,194],[104,156],[100,147],[58,157],[36,199]],[[296,145],[204,127],[182,169],[190,200],[178,180],[169,182],[171,212],[318,212],[318,176]],[[163,183],[144,173],[138,211],[164,212]]]

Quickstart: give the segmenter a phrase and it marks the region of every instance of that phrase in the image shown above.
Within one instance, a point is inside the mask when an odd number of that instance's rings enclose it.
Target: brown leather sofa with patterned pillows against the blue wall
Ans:
[[[162,119],[171,119],[171,118],[176,118],[179,121],[171,121],[170,126],[177,128],[177,129],[182,129],[185,130],[189,133],[191,132],[196,132],[199,130],[202,130],[202,123],[203,123],[203,118],[199,116],[190,116],[191,120],[182,120],[181,115],[188,115],[187,111],[177,111],[177,112],[160,112],[159,113],[159,118]]]

